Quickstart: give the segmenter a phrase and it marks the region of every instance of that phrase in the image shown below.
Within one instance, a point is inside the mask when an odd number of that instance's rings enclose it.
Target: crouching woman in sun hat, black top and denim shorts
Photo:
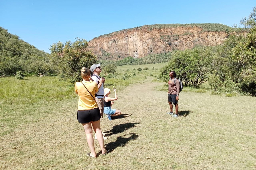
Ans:
[[[112,120],[112,116],[119,116],[122,114],[120,110],[111,109],[112,104],[114,104],[113,101],[118,99],[116,89],[113,88],[113,90],[115,92],[115,97],[108,97],[108,95],[110,94],[110,89],[104,89],[104,114],[108,116],[109,120]]]

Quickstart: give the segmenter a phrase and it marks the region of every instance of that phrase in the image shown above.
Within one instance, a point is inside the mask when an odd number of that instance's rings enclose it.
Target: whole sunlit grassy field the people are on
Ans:
[[[172,118],[166,83],[157,81],[163,65],[120,66],[118,77],[106,80],[117,87],[113,108],[123,115],[101,120],[111,152],[96,159],[86,156],[73,84],[1,78],[0,169],[256,169],[256,98],[212,95],[207,84],[185,87],[181,116]],[[124,73],[131,77],[123,80]],[[95,147],[100,152],[97,141]]]

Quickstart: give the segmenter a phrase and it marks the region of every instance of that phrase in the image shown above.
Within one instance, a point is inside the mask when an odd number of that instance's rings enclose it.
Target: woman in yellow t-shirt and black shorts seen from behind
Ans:
[[[81,69],[82,82],[76,82],[75,92],[78,94],[77,119],[82,124],[86,133],[87,143],[91,152],[87,156],[96,157],[92,127],[96,133],[97,140],[101,147],[102,155],[108,150],[105,148],[103,135],[100,129],[100,110],[95,101],[95,93],[99,90],[96,82],[91,81],[90,70],[83,67]]]

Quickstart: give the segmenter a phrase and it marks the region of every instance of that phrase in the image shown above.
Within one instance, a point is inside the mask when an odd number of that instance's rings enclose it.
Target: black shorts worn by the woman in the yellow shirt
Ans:
[[[81,124],[89,123],[91,121],[100,120],[100,109],[90,109],[90,110],[78,110],[77,120]]]

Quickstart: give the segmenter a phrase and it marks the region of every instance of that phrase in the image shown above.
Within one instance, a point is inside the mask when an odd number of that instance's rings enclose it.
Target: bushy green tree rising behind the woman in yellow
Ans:
[[[81,81],[81,68],[96,63],[96,56],[87,49],[88,42],[77,38],[75,42],[58,42],[52,44],[51,60],[58,65],[60,77],[71,82]]]

